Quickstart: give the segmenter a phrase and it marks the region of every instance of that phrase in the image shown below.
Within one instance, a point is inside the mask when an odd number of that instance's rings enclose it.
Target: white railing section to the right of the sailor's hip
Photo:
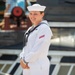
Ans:
[[[51,56],[51,65],[55,65],[55,68],[51,75],[58,75],[61,66],[70,66],[67,75],[71,75],[75,63],[61,63],[60,61],[64,56],[74,57],[75,51],[49,51],[49,56]]]

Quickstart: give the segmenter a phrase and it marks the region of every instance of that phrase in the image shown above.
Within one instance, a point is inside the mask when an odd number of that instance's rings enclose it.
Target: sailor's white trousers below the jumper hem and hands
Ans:
[[[23,75],[49,75],[50,62],[48,59],[28,64],[30,69],[23,69]]]

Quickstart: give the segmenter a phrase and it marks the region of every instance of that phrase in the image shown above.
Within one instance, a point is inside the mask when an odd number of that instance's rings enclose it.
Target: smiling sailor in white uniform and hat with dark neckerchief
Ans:
[[[50,61],[47,56],[52,31],[43,19],[45,8],[40,4],[27,7],[33,25],[24,34],[25,42],[20,53],[23,75],[49,75]]]

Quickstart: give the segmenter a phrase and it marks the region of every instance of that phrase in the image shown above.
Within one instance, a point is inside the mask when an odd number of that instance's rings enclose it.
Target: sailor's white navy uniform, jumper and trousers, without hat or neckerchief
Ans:
[[[49,75],[50,61],[47,56],[51,37],[52,31],[46,20],[30,33],[28,42],[20,54],[20,58],[24,57],[30,67],[23,69],[23,75]]]

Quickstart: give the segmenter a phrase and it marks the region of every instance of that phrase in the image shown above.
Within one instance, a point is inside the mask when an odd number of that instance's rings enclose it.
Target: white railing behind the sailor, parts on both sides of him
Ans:
[[[6,49],[1,49],[0,50],[0,54],[2,55],[2,54],[16,54],[17,56],[19,55],[19,53],[21,52],[21,50],[13,50],[13,49],[11,49],[11,50],[6,50]],[[61,66],[66,66],[66,67],[68,67],[69,66],[69,70],[68,70],[68,72],[67,72],[67,74],[66,75],[71,75],[71,73],[72,73],[72,71],[73,71],[73,69],[74,69],[74,67],[75,67],[75,63],[63,63],[63,62],[60,62],[61,61],[61,59],[64,57],[64,56],[66,56],[66,57],[74,57],[75,56],[75,51],[60,51],[60,50],[58,50],[58,51],[55,51],[55,50],[49,50],[49,53],[48,53],[48,56],[50,56],[51,57],[51,60],[50,60],[50,62],[51,62],[51,65],[55,65],[55,67],[54,67],[54,69],[53,69],[53,71],[52,71],[52,74],[50,74],[50,75],[63,75],[63,74],[60,74],[60,68],[61,68]],[[1,60],[1,62],[2,62],[2,60]],[[1,64],[1,62],[0,62],[0,64]],[[19,58],[17,58],[17,60],[16,61],[14,61],[13,63],[11,63],[11,67],[9,68],[9,70],[7,71],[7,73],[9,74],[10,72],[11,72],[11,70],[13,69],[13,67],[14,67],[14,65],[16,64],[16,63],[19,63]],[[3,63],[4,64],[4,63]],[[7,65],[8,63],[6,63],[5,62],[5,64],[4,65]],[[4,67],[4,66],[3,66]],[[20,70],[20,71],[19,71]],[[2,71],[2,69],[1,69],[1,71]],[[17,72],[20,72],[20,74],[21,74],[21,71],[22,71],[22,69],[21,69],[21,67],[19,66],[18,67],[18,69],[15,71],[15,73],[14,73],[14,75],[16,75],[17,74]],[[19,74],[19,75],[20,75]]]

